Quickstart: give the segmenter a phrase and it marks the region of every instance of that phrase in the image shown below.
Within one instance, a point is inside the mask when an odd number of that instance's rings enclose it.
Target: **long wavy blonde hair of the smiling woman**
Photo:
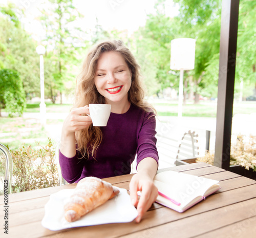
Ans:
[[[82,69],[77,76],[76,92],[73,107],[81,107],[90,103],[105,103],[104,97],[97,91],[94,77],[97,61],[102,53],[115,51],[122,55],[132,73],[132,85],[128,92],[128,100],[146,112],[154,112],[153,107],[144,101],[144,90],[139,76],[139,65],[130,50],[121,40],[103,41],[95,45],[87,54]],[[89,158],[91,153],[95,159],[98,146],[102,141],[100,127],[90,125],[75,133],[77,150],[83,157]]]

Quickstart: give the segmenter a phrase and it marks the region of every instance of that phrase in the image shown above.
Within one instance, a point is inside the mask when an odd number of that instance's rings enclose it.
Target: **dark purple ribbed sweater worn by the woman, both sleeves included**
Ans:
[[[111,113],[108,124],[100,128],[103,137],[96,151],[96,161],[92,156],[78,159],[81,158],[78,153],[73,158],[59,153],[62,176],[68,183],[88,176],[102,179],[130,174],[136,155],[137,165],[146,157],[158,163],[156,119],[152,114],[131,104],[124,114]]]

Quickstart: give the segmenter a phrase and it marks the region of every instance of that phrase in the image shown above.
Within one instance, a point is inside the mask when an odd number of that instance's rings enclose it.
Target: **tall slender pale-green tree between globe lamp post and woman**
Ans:
[[[72,0],[49,0],[50,9],[42,10],[40,20],[46,30],[45,41],[47,55],[46,61],[50,61],[51,72],[46,77],[46,85],[53,103],[57,94],[60,94],[62,103],[62,92],[66,89],[66,83],[73,80],[75,75],[70,74],[68,70],[72,63],[77,62],[76,43],[81,34],[81,30],[74,27],[75,20],[81,15],[73,6]],[[71,32],[71,28],[74,29]]]

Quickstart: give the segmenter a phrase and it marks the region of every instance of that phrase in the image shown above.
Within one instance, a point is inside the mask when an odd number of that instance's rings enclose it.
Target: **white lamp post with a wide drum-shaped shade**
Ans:
[[[178,117],[182,116],[184,70],[195,68],[196,40],[178,38],[170,41],[170,69],[180,70]]]

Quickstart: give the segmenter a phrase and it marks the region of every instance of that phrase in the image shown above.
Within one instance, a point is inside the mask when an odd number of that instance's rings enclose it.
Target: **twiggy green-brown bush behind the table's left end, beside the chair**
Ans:
[[[12,192],[23,192],[59,185],[55,163],[55,148],[51,139],[48,144],[36,147],[24,145],[10,150],[13,159]]]

